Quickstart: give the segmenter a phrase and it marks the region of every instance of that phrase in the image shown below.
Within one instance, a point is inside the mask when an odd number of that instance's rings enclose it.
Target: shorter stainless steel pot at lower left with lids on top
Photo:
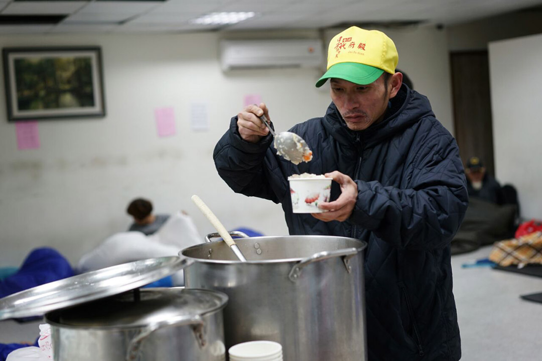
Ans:
[[[29,288],[0,299],[0,320],[45,314],[55,361],[225,360],[225,294],[139,289],[192,263],[139,260]]]

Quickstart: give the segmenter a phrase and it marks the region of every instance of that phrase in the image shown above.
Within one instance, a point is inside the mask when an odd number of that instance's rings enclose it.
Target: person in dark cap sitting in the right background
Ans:
[[[465,168],[467,190],[470,197],[476,197],[495,204],[501,203],[501,186],[487,174],[479,157],[470,157]]]

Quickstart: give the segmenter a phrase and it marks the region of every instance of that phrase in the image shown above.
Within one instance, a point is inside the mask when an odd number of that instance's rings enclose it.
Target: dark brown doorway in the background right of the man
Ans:
[[[452,52],[450,67],[455,139],[463,165],[469,157],[478,156],[494,176],[487,51]]]

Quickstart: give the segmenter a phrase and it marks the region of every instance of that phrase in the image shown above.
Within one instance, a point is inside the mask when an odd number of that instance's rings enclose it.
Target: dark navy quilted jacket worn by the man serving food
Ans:
[[[280,202],[291,234],[355,237],[365,253],[367,344],[371,361],[461,357],[450,265],[450,241],[468,204],[454,138],[428,99],[402,86],[385,118],[366,130],[347,128],[332,103],[323,118],[292,128],[313,150],[293,165],[270,136],[241,139],[237,118],[215,147],[220,176],[238,193]],[[287,177],[339,170],[358,185],[345,222],[292,213]],[[340,189],[333,182],[331,199]]]

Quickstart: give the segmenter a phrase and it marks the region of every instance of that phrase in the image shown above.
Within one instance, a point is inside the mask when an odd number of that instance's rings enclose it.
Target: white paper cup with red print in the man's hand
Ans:
[[[288,181],[294,213],[327,212],[318,208],[318,204],[330,200],[331,178],[289,178]]]

